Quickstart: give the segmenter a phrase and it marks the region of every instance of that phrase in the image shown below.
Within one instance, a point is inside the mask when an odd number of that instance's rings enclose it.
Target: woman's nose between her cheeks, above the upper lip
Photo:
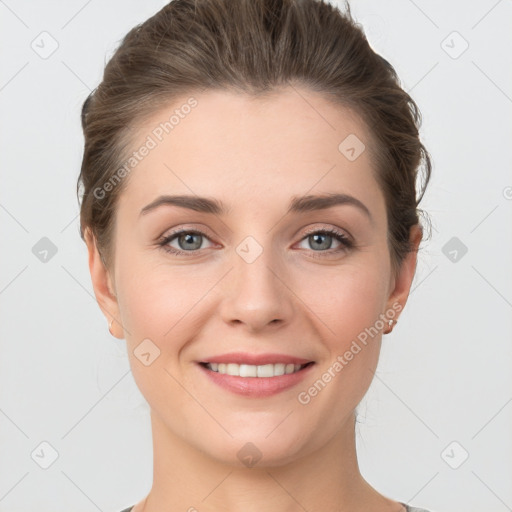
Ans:
[[[222,319],[244,325],[251,333],[289,323],[294,295],[287,281],[283,265],[271,250],[263,250],[254,261],[235,251],[233,268],[222,285]]]

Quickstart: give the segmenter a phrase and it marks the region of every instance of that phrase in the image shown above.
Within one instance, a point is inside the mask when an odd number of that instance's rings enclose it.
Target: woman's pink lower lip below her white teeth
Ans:
[[[278,377],[238,377],[214,372],[201,364],[198,364],[198,366],[218,386],[237,395],[260,398],[276,395],[296,386],[310,374],[310,370],[315,365],[311,364],[298,372],[279,375]]]

